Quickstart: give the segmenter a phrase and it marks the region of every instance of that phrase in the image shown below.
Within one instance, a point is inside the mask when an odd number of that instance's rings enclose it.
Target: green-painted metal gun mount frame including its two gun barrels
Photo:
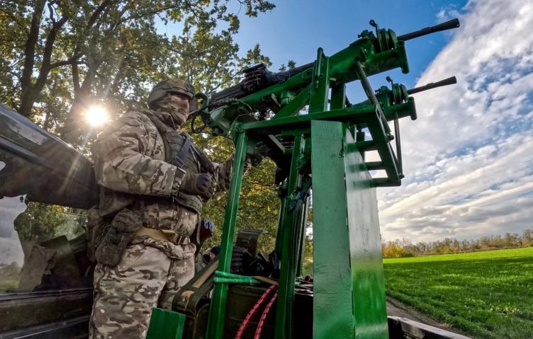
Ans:
[[[359,40],[329,57],[319,48],[313,67],[281,84],[242,98],[226,99],[211,112],[207,111],[207,96],[201,96],[203,122],[219,135],[231,133],[235,140],[218,271],[230,271],[240,173],[247,149],[258,141],[274,142],[281,157],[290,160],[288,178],[281,184],[275,248],[281,255],[275,338],[296,337],[292,328],[295,278],[301,272],[311,173],[313,336],[388,338],[376,187],[400,185],[403,173],[398,120],[408,116],[416,119],[415,101],[409,94],[429,87],[408,91],[403,85],[391,84],[391,89],[381,87],[374,93],[367,76],[397,67],[408,73],[404,39],[458,27],[459,22],[450,21],[398,38],[392,30],[378,28],[374,21],[371,25],[376,28],[375,35],[364,30]],[[352,105],[346,98],[345,84],[355,80],[361,81],[368,100]],[[301,114],[305,105],[308,113]],[[254,113],[267,109],[275,113],[270,120],[254,118]],[[394,121],[394,136],[389,121]],[[370,139],[366,139],[364,130],[369,131]],[[276,138],[280,135],[293,137],[292,149],[279,144]],[[396,152],[390,144],[394,137],[398,138]],[[365,161],[366,151],[377,151],[380,161]],[[386,178],[372,178],[369,171],[375,170],[384,170]],[[227,298],[228,282],[216,282],[208,339],[224,338]]]

